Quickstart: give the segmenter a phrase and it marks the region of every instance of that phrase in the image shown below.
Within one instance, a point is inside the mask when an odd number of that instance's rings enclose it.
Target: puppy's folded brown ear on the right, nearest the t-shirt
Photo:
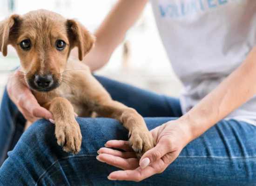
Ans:
[[[71,46],[78,47],[79,60],[83,60],[94,46],[94,36],[76,20],[67,20],[67,32]]]

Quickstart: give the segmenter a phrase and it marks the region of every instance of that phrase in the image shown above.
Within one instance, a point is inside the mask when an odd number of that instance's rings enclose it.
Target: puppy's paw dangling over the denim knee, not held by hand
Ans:
[[[59,146],[67,153],[77,154],[81,150],[82,135],[76,120],[55,123],[55,136]]]

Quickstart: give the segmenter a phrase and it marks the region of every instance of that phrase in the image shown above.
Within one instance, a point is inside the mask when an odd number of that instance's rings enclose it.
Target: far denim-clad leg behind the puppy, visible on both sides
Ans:
[[[95,76],[108,90],[114,100],[135,108],[143,117],[180,117],[182,111],[179,100],[145,91],[134,86],[128,86],[118,81]],[[3,94],[0,109],[0,166],[7,158],[23,133],[26,120],[18,108]]]

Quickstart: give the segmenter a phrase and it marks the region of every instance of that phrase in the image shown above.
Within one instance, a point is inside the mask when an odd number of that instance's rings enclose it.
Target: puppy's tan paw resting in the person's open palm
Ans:
[[[138,158],[141,158],[144,153],[155,146],[155,140],[148,130],[143,131],[143,129],[138,128],[130,132],[129,136],[131,147],[137,154]]]

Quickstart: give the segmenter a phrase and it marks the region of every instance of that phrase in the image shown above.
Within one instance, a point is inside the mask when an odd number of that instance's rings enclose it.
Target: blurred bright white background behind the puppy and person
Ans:
[[[0,20],[12,13],[24,14],[43,8],[60,13],[66,18],[75,18],[94,33],[116,1],[0,0]],[[18,65],[19,59],[11,47],[7,57],[0,54],[0,96],[9,71]],[[179,96],[182,84],[175,76],[162,46],[149,2],[108,64],[96,74],[157,93]]]

